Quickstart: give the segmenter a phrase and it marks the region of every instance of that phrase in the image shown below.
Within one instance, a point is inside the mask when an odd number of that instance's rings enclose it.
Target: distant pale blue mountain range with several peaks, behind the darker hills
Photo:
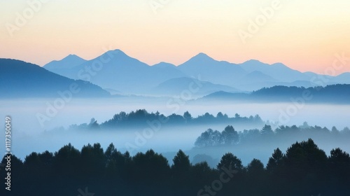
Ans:
[[[69,55],[44,67],[62,76],[87,80],[122,94],[149,94],[167,80],[191,77],[242,91],[276,85],[314,87],[350,84],[350,73],[322,76],[312,72],[302,73],[281,63],[265,64],[258,60],[234,64],[218,61],[202,52],[179,66],[167,62],[150,66],[126,55],[122,50],[111,50],[89,61]]]

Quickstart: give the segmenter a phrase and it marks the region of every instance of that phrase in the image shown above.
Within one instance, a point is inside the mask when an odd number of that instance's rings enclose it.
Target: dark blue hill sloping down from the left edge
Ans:
[[[83,80],[72,80],[41,66],[16,59],[0,59],[0,97],[108,97],[101,87]]]

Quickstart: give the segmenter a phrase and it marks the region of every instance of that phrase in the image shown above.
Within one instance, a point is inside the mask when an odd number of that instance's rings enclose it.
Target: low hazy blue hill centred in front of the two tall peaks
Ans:
[[[160,85],[151,90],[151,93],[162,96],[183,96],[185,94],[191,99],[194,99],[221,90],[239,92],[239,90],[227,85],[217,85],[207,81],[197,80],[196,78],[183,77],[173,78],[160,83]]]

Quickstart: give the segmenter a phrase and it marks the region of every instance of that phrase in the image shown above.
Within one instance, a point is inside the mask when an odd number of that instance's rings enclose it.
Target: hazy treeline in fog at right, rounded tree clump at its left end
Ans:
[[[256,144],[257,142],[281,141],[281,139],[293,139],[294,141],[300,138],[322,137],[327,139],[350,139],[349,127],[344,127],[343,130],[337,130],[332,127],[328,130],[327,127],[309,126],[307,123],[297,127],[281,125],[275,130],[272,130],[271,125],[265,125],[261,130],[243,130],[237,132],[234,127],[228,125],[225,130],[207,130],[197,137],[195,141],[196,147],[210,146],[228,146],[237,144]]]

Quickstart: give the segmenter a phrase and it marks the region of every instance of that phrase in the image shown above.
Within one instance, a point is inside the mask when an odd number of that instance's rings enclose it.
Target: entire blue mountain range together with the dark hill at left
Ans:
[[[199,53],[175,66],[148,65],[121,50],[110,50],[86,60],[69,55],[41,67],[16,59],[0,59],[1,97],[50,97],[78,84],[82,97],[109,94],[174,96],[190,90],[191,97],[215,92],[252,92],[262,87],[315,87],[350,84],[350,73],[323,76],[296,71],[276,63],[249,60],[241,64],[218,61]],[[77,95],[78,96],[78,95]]]

